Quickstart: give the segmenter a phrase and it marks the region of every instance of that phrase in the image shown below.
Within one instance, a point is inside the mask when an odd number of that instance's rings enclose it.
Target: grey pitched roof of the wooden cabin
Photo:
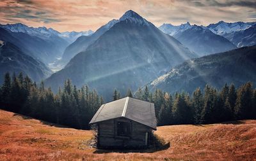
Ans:
[[[120,117],[142,123],[156,130],[154,103],[141,101],[132,97],[125,97],[102,104],[89,124]]]

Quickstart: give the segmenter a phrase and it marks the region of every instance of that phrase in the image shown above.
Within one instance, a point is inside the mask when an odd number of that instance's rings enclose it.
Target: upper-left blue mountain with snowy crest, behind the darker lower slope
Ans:
[[[39,33],[36,32],[35,36],[25,31],[13,32],[13,29],[11,31],[3,26],[0,27],[0,31],[0,40],[13,43],[15,46],[18,46],[22,52],[45,64],[49,64],[60,58],[68,45],[65,39],[55,34],[42,32],[42,36],[38,36]]]

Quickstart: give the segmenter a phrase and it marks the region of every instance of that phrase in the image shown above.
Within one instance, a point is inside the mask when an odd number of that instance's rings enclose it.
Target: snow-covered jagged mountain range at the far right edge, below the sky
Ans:
[[[217,24],[210,24],[207,26],[209,30],[211,30],[214,34],[218,34],[223,36],[224,34],[230,34],[232,32],[244,31],[255,25],[256,22],[223,22],[220,21]]]

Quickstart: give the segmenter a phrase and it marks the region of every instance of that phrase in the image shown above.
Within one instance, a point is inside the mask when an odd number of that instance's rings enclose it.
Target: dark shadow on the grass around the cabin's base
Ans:
[[[156,151],[167,150],[170,148],[170,142],[166,143],[163,138],[153,134],[151,144],[147,148],[100,148],[93,153],[154,153]]]

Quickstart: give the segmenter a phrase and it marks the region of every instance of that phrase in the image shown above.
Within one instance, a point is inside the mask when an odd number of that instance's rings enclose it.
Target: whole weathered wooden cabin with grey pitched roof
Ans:
[[[145,148],[156,130],[154,103],[132,97],[108,102],[89,124],[97,129],[97,148]]]

